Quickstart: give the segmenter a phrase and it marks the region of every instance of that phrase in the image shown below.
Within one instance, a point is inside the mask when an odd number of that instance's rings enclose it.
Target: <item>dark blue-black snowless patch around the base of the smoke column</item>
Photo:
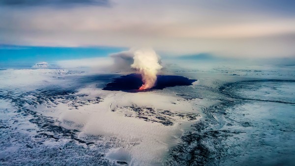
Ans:
[[[156,85],[150,89],[164,89],[173,86],[192,85],[197,80],[191,80],[182,76],[158,75]],[[139,91],[143,84],[140,74],[129,74],[113,79],[112,83],[107,83],[103,90],[111,91]]]

